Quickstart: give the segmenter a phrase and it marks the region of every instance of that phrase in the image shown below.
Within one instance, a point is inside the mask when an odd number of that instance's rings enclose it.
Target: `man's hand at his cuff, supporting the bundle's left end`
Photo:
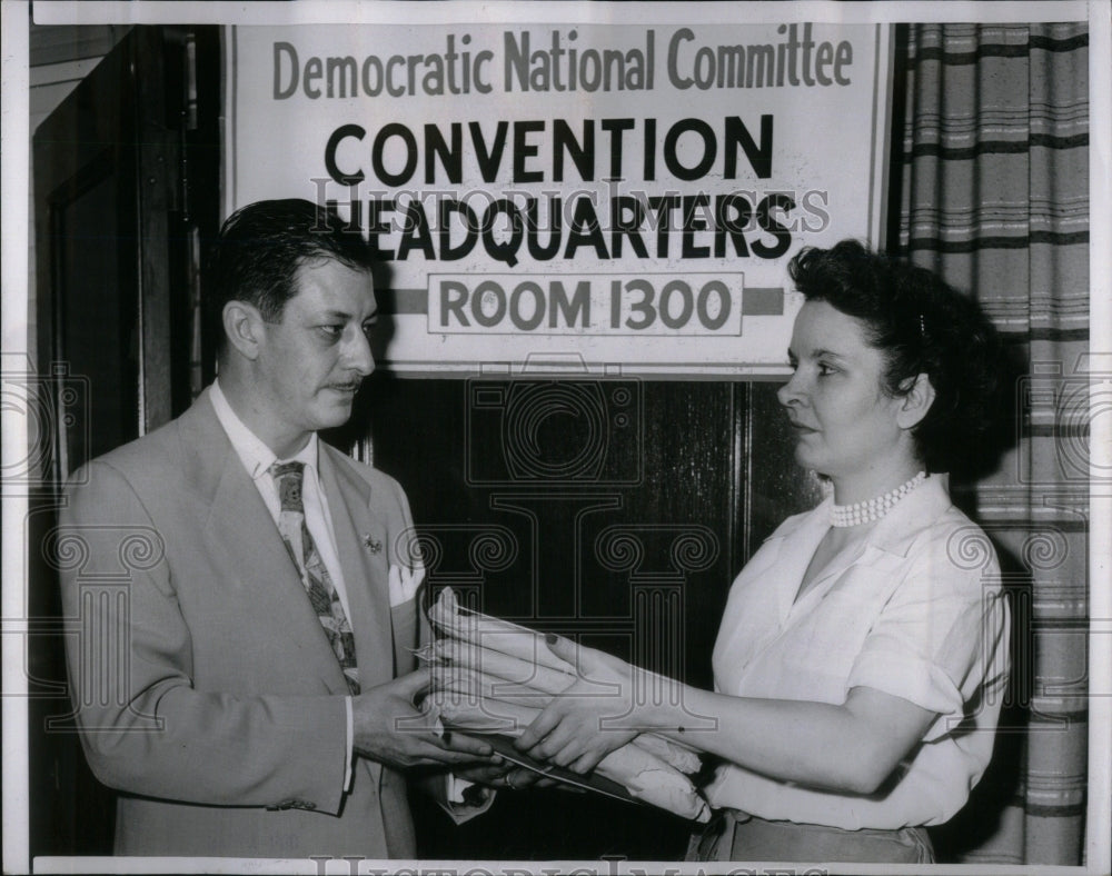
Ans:
[[[417,670],[351,698],[355,750],[394,767],[475,765],[494,749],[463,734],[438,736],[435,719],[417,708],[429,674]]]

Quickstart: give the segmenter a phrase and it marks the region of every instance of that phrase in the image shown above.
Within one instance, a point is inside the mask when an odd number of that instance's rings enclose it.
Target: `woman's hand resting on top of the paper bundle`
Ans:
[[[648,674],[564,638],[549,636],[547,641],[553,654],[576,668],[578,679],[554,697],[514,744],[537,760],[589,773],[637,735],[637,683]]]

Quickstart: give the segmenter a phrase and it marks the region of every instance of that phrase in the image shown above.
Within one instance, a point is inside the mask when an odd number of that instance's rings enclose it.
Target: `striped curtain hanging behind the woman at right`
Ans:
[[[943,860],[1078,865],[1088,736],[1088,30],[911,26],[905,60],[892,248],[974,295],[1017,362],[1003,464],[955,484],[955,500],[995,542],[1012,596],[1011,689],[993,765],[936,845]]]

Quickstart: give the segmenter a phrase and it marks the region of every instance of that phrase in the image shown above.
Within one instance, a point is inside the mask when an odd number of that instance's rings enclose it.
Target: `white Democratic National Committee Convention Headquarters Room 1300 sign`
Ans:
[[[876,243],[870,24],[235,27],[225,209],[335,202],[401,374],[783,374],[788,259]]]

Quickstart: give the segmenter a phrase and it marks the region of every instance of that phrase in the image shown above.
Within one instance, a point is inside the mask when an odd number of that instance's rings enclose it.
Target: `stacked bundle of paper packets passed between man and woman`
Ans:
[[[428,616],[443,638],[424,654],[433,667],[427,703],[446,724],[520,736],[577,678],[575,668],[552,653],[544,636],[461,609],[450,588]],[[701,765],[689,748],[643,733],[603,758],[595,772],[637,799],[706,822],[709,808],[688,778]]]

